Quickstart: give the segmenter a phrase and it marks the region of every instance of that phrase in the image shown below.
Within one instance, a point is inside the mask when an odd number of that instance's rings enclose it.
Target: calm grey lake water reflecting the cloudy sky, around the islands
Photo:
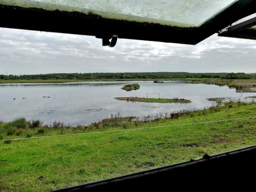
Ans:
[[[124,84],[138,83],[139,90],[126,92]],[[143,103],[116,100],[114,97],[146,97],[146,93],[160,93],[160,98],[184,98],[191,103]],[[255,93],[243,93],[242,98]],[[44,98],[45,96],[45,98]],[[75,83],[15,83],[0,84],[0,120],[18,117],[40,119],[44,123],[54,120],[65,124],[89,124],[111,114],[146,116],[183,109],[203,109],[214,102],[206,98],[240,97],[235,89],[207,84],[189,84],[184,81],[132,82],[75,82]],[[158,98],[157,94],[148,97]],[[15,99],[13,99],[15,98]]]

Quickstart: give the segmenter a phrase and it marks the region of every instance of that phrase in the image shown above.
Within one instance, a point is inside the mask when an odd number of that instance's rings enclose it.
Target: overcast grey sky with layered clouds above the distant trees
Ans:
[[[196,46],[0,28],[0,74],[256,72],[256,40],[211,37]]]

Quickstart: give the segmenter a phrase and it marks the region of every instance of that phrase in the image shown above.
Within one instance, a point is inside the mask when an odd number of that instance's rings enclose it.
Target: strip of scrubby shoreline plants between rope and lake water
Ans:
[[[240,106],[253,106],[254,102],[223,102],[222,105],[211,106],[203,110],[181,110],[165,114],[157,114],[155,116],[148,115],[142,117],[126,116],[120,114],[112,115],[111,118],[104,118],[100,121],[90,123],[88,125],[78,124],[73,126],[65,124],[63,121],[54,121],[53,124],[44,124],[44,121],[39,119],[27,120],[24,117],[16,118],[10,122],[0,121],[0,141],[3,139],[15,139],[21,137],[34,136],[53,136],[59,134],[73,133],[90,133],[104,132],[119,129],[133,129],[144,123],[157,123],[159,121],[170,121],[177,118],[189,118],[197,116],[207,116],[217,112],[225,111],[225,109],[238,109]],[[132,127],[131,127],[132,126]]]

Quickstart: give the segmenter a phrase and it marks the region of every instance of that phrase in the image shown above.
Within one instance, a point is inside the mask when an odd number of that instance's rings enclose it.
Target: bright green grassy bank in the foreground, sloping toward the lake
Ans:
[[[11,143],[2,141],[0,191],[48,191],[194,159],[205,153],[216,154],[252,145],[256,142],[255,118],[196,125],[188,123],[255,116],[256,103],[230,102],[217,108],[177,112],[162,118],[145,117],[138,122],[117,115],[102,120],[95,126],[83,126],[85,132],[125,130],[122,132],[39,138]],[[133,130],[174,124],[186,125]],[[16,125],[19,123],[16,122]],[[38,128],[26,129],[36,132]],[[61,132],[60,127],[45,129],[44,133],[37,132],[37,136]],[[71,127],[67,129],[74,133],[82,131],[81,127],[80,131]],[[64,130],[63,134],[66,132],[68,130]]]

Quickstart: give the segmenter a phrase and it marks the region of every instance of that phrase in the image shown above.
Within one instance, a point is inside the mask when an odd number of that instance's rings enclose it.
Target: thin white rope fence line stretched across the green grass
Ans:
[[[215,122],[223,122],[223,121],[234,121],[234,120],[241,120],[241,119],[253,119],[253,118],[256,118],[256,117],[244,117],[244,118],[224,119],[224,120],[216,120],[216,121],[203,121],[203,122],[173,124],[173,125],[164,125],[164,126],[151,126],[151,127],[142,127],[142,128],[127,129],[127,130],[112,130],[112,131],[76,133],[76,134],[66,134],[66,135],[52,135],[52,136],[40,136],[40,137],[29,137],[29,138],[3,139],[0,141],[13,141],[13,140],[48,138],[48,137],[63,137],[63,136],[71,136],[71,135],[87,135],[87,134],[97,134],[97,133],[112,133],[112,132],[122,132],[122,131],[146,130],[146,129],[157,129],[157,128],[162,128],[162,127],[195,125],[195,124],[215,123]]]

